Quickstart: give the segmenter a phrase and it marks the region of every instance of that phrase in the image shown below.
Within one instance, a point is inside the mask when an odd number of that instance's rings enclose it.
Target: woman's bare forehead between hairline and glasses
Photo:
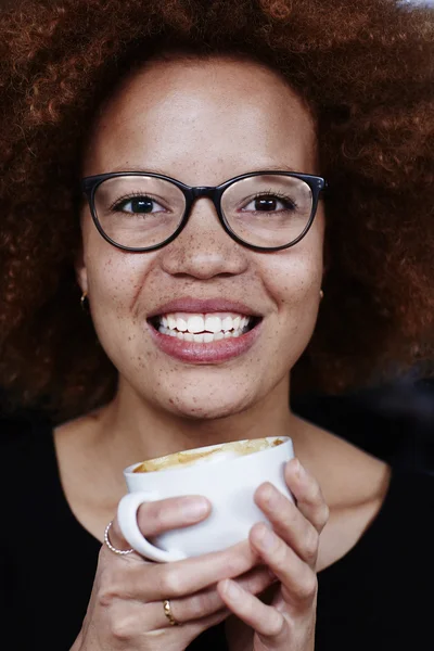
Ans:
[[[85,174],[146,169],[215,184],[253,169],[315,173],[316,132],[304,101],[248,61],[148,63],[102,106]]]

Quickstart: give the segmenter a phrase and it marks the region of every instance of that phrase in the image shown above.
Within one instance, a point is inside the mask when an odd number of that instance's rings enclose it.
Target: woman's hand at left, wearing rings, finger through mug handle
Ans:
[[[194,505],[206,502],[197,514]],[[142,505],[138,523],[149,539],[195,524],[208,516],[203,497],[178,497]],[[128,549],[117,521],[110,539]],[[183,651],[203,630],[229,614],[216,590],[217,582],[235,578],[257,595],[273,583],[248,540],[224,551],[170,563],[153,563],[136,552],[119,556],[102,546],[97,575],[81,631],[71,651]],[[180,624],[173,626],[163,602]]]

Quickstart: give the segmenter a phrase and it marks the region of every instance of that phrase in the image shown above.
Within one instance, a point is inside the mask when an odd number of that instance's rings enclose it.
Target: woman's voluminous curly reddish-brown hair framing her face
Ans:
[[[434,347],[434,16],[394,0],[25,0],[0,18],[0,384],[62,420],[116,371],[82,314],[74,260],[87,125],[167,48],[281,72],[318,124],[326,298],[294,369],[342,391]],[[140,54],[139,54],[140,52]]]

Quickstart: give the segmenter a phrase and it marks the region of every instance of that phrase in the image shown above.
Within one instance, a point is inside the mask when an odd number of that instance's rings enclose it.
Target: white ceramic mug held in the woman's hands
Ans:
[[[286,436],[267,438],[269,442],[276,439],[283,443],[230,459],[218,459],[216,455],[215,462],[136,473],[133,470],[140,463],[129,465],[124,470],[129,493],[123,497],[117,510],[124,538],[136,551],[159,562],[220,551],[245,540],[256,522],[268,522],[254,502],[254,494],[260,484],[270,482],[294,501],[284,480],[284,467],[294,457],[292,441]],[[189,451],[217,447],[221,444]],[[197,524],[161,534],[152,545],[137,524],[140,505],[183,495],[207,497],[212,503],[210,514]]]

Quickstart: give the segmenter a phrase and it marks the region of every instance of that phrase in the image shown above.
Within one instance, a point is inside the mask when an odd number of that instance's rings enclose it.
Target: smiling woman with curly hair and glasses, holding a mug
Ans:
[[[288,396],[432,354],[433,25],[388,0],[4,15],[1,379],[53,423],[2,444],[14,648],[429,648],[432,478]],[[126,465],[264,434],[293,439],[297,507],[264,484],[235,547],[128,549]]]

